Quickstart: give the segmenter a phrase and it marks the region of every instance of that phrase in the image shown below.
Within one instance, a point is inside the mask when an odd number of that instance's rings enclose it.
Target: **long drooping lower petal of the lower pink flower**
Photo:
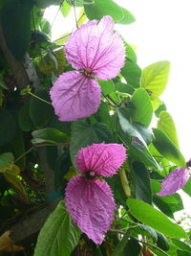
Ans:
[[[74,176],[66,188],[66,206],[72,219],[90,239],[101,244],[110,228],[116,204],[105,181]]]

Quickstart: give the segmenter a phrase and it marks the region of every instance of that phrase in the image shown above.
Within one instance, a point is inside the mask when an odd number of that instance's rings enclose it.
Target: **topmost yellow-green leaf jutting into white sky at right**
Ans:
[[[153,63],[142,70],[140,84],[151,93],[155,100],[164,91],[168,82],[170,62],[167,60]]]

